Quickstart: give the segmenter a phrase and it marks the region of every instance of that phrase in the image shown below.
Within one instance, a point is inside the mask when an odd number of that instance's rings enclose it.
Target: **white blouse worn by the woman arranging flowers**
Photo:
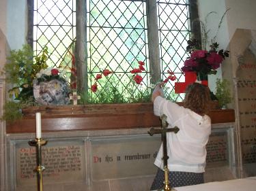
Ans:
[[[167,133],[167,154],[169,171],[203,173],[205,171],[206,149],[211,133],[209,116],[200,116],[194,111],[160,96],[154,101],[154,114],[167,116],[168,128],[177,126],[180,131]],[[154,164],[163,169],[162,145]]]

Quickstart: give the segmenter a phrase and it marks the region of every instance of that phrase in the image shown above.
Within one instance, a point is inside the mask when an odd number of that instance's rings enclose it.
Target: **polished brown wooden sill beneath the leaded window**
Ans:
[[[152,103],[31,107],[23,120],[7,124],[7,133],[34,133],[35,112],[42,113],[42,131],[77,131],[160,126]],[[233,109],[212,109],[212,124],[235,122]]]

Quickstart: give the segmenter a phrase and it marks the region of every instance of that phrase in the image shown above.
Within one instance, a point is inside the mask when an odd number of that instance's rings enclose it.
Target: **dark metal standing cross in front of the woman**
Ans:
[[[169,183],[169,169],[168,169],[168,158],[169,156],[167,155],[167,133],[169,132],[174,132],[177,133],[180,131],[180,128],[175,126],[174,128],[167,128],[169,125],[167,122],[167,116],[165,114],[162,114],[160,116],[160,120],[162,122],[162,128],[150,128],[148,133],[153,136],[154,134],[162,134],[162,160],[164,162],[164,171],[165,171],[165,182],[164,182],[164,187],[161,188],[160,190],[171,190],[174,191],[175,189],[171,188],[170,183]]]

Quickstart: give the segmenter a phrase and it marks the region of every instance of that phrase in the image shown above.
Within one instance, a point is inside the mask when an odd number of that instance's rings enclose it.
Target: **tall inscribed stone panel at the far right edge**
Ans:
[[[255,44],[252,41],[251,45]],[[256,57],[255,53],[246,48],[238,56],[238,105],[240,114],[242,159],[244,163],[256,162]]]

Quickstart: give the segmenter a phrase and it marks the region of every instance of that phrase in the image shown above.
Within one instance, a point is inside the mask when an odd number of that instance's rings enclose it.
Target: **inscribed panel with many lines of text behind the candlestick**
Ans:
[[[16,185],[36,184],[35,147],[27,141],[15,145]],[[48,141],[42,147],[44,183],[84,181],[85,146],[83,140]]]

